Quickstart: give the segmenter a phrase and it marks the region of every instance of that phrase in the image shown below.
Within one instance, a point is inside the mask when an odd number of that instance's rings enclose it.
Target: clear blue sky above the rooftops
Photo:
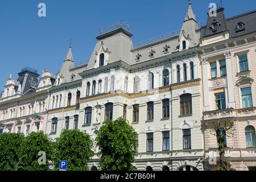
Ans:
[[[47,16],[38,16],[38,4],[46,3]],[[206,24],[208,5],[220,0],[192,0],[197,22]],[[255,0],[224,0],[226,17],[254,10]],[[181,28],[187,0],[1,0],[0,90],[10,73],[17,78],[27,65],[57,73],[73,39],[76,62],[90,58],[98,28],[125,20],[132,27],[133,43]]]

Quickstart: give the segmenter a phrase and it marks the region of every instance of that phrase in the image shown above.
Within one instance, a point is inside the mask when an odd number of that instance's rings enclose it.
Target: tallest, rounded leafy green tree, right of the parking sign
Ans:
[[[100,152],[100,168],[102,171],[130,171],[134,167],[138,134],[123,119],[106,121],[100,128],[96,145]]]

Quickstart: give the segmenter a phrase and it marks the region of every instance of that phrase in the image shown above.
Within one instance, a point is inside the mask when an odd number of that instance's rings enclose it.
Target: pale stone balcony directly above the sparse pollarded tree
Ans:
[[[204,115],[204,121],[208,121],[208,120],[215,120],[215,119],[233,118],[233,117],[236,117],[236,112],[233,108],[230,108],[230,109],[223,109],[223,110],[205,111],[203,115]]]

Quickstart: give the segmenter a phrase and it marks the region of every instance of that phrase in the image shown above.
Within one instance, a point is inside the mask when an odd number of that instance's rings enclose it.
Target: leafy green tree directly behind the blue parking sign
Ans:
[[[56,139],[55,168],[60,160],[68,161],[68,171],[86,171],[87,163],[93,156],[93,140],[79,130],[64,130]]]

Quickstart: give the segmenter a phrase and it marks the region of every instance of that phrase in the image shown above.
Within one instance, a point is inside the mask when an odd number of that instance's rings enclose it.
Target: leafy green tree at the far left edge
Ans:
[[[16,171],[18,169],[18,151],[23,140],[23,134],[0,134],[0,171]]]

